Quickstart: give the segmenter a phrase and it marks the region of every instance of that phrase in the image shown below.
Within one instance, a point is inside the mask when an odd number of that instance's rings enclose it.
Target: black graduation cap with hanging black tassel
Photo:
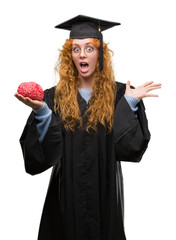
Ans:
[[[84,15],[78,15],[66,22],[55,26],[55,28],[70,30],[70,39],[98,38],[100,40],[99,70],[102,71],[103,35],[101,32],[116,25],[120,25],[120,23],[105,21]]]

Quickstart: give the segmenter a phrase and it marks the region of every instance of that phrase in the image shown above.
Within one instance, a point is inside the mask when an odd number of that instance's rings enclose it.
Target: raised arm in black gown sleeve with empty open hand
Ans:
[[[130,87],[130,82],[117,83],[117,100],[114,113],[114,147],[117,161],[139,162],[147,149],[150,140],[148,121],[142,101],[144,97],[157,97],[150,91],[161,88],[161,84],[148,82],[136,89]],[[126,96],[140,100],[137,118],[127,103]]]

